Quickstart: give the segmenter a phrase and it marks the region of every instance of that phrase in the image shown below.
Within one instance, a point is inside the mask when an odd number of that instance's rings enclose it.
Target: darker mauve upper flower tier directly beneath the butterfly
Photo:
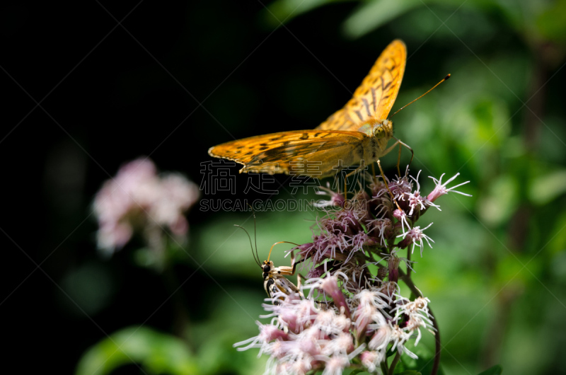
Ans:
[[[348,200],[342,193],[323,188],[330,194],[330,200],[319,201],[318,207],[338,209],[328,211],[325,217],[317,221],[318,233],[313,234],[311,243],[299,246],[299,254],[303,258],[312,258],[315,264],[327,259],[347,263],[357,261],[354,259],[357,255],[363,260],[364,249],[368,247],[383,248],[383,252],[377,253],[381,255],[389,253],[388,248],[391,246],[404,249],[412,245],[412,250],[415,246],[420,248],[422,256],[423,240],[429,246],[434,242],[423,233],[432,223],[422,229],[414,224],[429,207],[439,209],[434,201],[441,195],[452,191],[470,196],[454,191],[454,188],[466,183],[446,189],[446,185],[457,176],[458,174],[444,184],[441,179],[433,179],[436,185],[434,190],[428,196],[423,196],[418,182],[419,175],[413,178],[408,175],[407,169],[403,177],[388,182],[395,202],[391,200],[386,185],[377,180],[369,185],[371,196],[368,192],[360,190]],[[415,184],[417,186],[413,190]],[[396,207],[399,208],[395,209]],[[395,244],[397,237],[402,237],[403,241]]]

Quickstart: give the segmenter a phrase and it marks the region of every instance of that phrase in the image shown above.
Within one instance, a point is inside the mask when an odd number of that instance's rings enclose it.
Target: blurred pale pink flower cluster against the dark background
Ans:
[[[182,175],[159,176],[148,158],[130,161],[96,194],[98,248],[112,253],[132,238],[134,230],[154,226],[185,236],[189,224],[183,212],[198,197],[197,185]]]

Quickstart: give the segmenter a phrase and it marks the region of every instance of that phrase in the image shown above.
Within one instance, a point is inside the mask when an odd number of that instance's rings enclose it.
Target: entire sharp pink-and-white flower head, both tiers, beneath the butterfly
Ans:
[[[266,299],[269,314],[262,318],[271,322],[258,322],[260,334],[238,342],[238,350],[260,348],[270,356],[266,372],[272,374],[341,374],[347,367],[374,372],[386,366],[388,351],[417,358],[408,341],[414,338],[417,345],[421,328],[434,334],[434,318],[429,299],[401,296],[398,280],[413,271],[415,246],[422,256],[424,241],[434,242],[423,233],[432,223],[423,229],[415,223],[429,207],[439,209],[438,197],[456,192],[446,188],[454,178],[444,184],[434,180],[429,195],[421,194],[418,175],[412,178],[408,170],[388,182],[391,193],[376,179],[369,191],[348,199],[325,189],[330,200],[318,203],[326,211],[316,221],[313,240],[292,249],[309,263],[301,292]],[[408,258],[398,256],[404,249]],[[399,268],[402,261],[405,272]],[[419,295],[416,287],[412,291]]]

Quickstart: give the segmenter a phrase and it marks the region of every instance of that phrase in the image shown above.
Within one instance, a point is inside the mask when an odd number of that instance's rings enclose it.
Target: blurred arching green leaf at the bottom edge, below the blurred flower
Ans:
[[[83,354],[76,375],[110,374],[137,363],[149,374],[197,374],[189,347],[178,337],[146,327],[128,327],[98,342]]]

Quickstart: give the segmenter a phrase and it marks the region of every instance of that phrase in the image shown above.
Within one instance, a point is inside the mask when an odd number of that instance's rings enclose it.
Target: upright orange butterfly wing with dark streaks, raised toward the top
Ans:
[[[316,129],[355,131],[369,120],[385,120],[397,98],[406,60],[405,43],[393,40],[381,52],[352,99]]]

